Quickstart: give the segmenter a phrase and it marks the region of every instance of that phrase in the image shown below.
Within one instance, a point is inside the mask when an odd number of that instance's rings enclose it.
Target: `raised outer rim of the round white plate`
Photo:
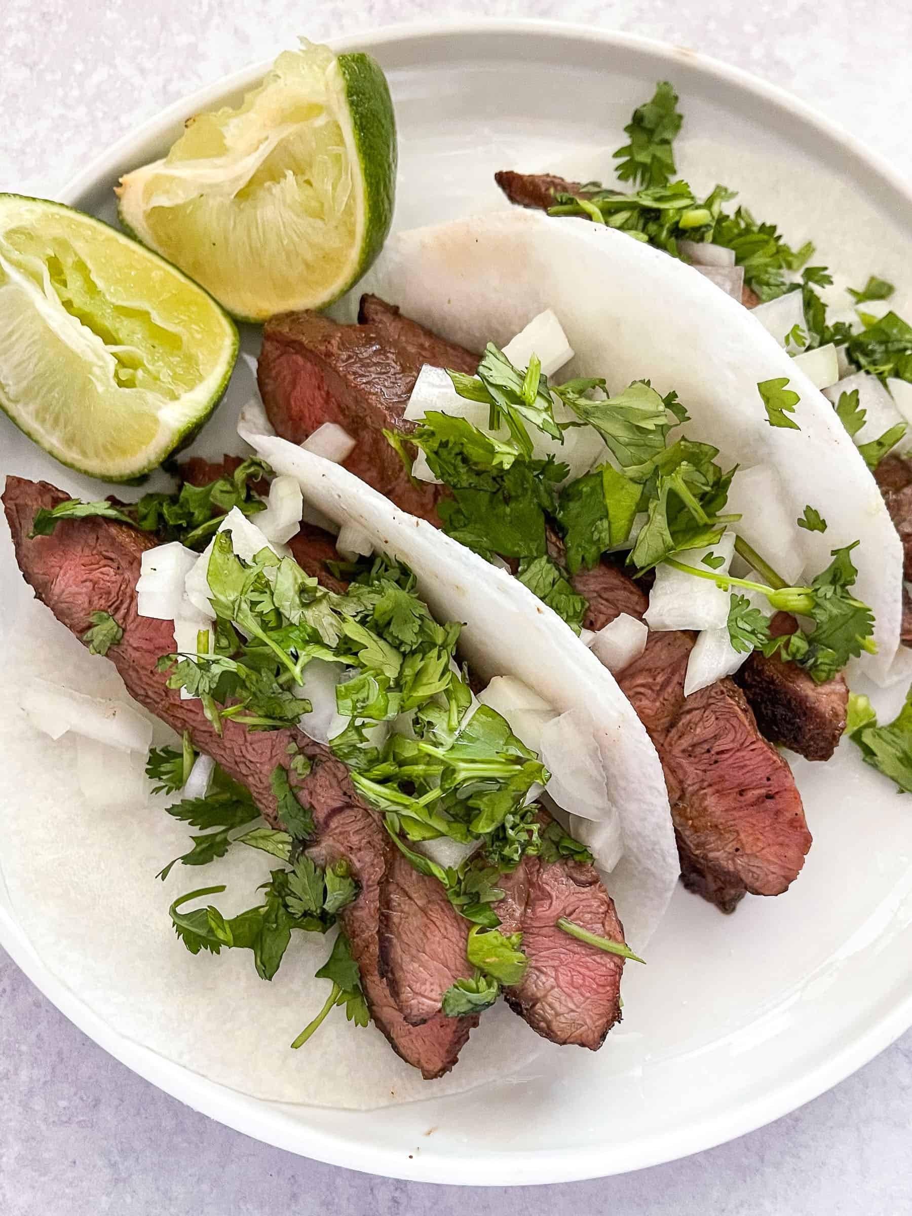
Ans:
[[[396,43],[490,36],[491,33],[519,40],[542,39],[546,43],[557,40],[568,45],[601,44],[640,51],[669,66],[687,63],[700,75],[714,78],[742,94],[753,95],[766,107],[773,107],[781,114],[798,119],[805,129],[816,130],[831,146],[850,153],[857,164],[874,179],[879,179],[901,204],[912,210],[912,184],[897,173],[885,157],[869,150],[858,137],[778,85],[769,84],[742,68],[687,46],[585,23],[528,18],[471,21],[432,18],[400,22],[360,34],[331,38],[327,43],[336,51],[370,51]],[[257,62],[179,97],[94,157],[85,168],[60,187],[60,199],[73,206],[75,199],[92,188],[100,179],[109,178],[124,154],[136,145],[182,122],[193,109],[213,105],[231,92],[249,88],[271,62],[271,60]],[[281,1108],[230,1091],[126,1040],[56,979],[24,938],[11,913],[2,906],[0,906],[0,945],[7,950],[13,962],[39,991],[94,1042],[131,1071],[192,1109],[265,1143],[330,1165],[421,1182],[465,1184],[468,1175],[474,1186],[545,1184],[607,1177],[677,1160],[743,1136],[795,1110],[863,1066],[912,1025],[912,984],[910,984],[905,996],[889,1001],[889,1004],[884,997],[878,1010],[867,1013],[869,1024],[863,1032],[848,1040],[840,1049],[800,1076],[787,1083],[777,1083],[770,1092],[743,1099],[733,1110],[726,1108],[675,1131],[641,1137],[623,1149],[613,1149],[609,1144],[561,1148],[546,1153],[499,1150],[490,1156],[478,1158],[471,1152],[435,1154],[428,1148],[409,1159],[404,1150],[400,1153],[388,1147],[373,1147],[356,1139],[351,1133],[326,1132],[313,1126],[292,1125]],[[169,1075],[171,1073],[173,1076]],[[364,1113],[361,1118],[370,1118],[371,1114],[371,1111]],[[358,1155],[353,1160],[351,1149],[355,1144]]]

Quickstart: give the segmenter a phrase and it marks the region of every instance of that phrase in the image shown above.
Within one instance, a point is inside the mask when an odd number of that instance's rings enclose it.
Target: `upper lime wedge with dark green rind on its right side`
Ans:
[[[120,223],[235,316],[319,309],[381,250],[396,136],[370,55],[302,39],[237,108],[190,119],[163,161],[120,179]]]

